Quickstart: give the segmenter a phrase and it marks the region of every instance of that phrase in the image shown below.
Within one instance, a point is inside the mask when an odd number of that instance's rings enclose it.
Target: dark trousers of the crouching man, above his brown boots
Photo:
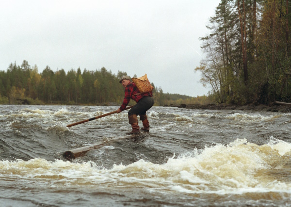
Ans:
[[[154,99],[150,96],[145,96],[136,103],[130,110],[130,115],[146,115],[146,111],[154,105]]]

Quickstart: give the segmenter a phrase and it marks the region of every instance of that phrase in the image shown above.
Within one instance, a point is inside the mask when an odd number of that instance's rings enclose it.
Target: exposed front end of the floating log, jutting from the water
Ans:
[[[92,149],[102,148],[104,145],[105,145],[105,142],[98,142],[93,145],[85,146],[82,148],[71,149],[71,150],[65,151],[63,154],[63,157],[67,160],[72,160],[77,157],[84,156],[88,151]]]

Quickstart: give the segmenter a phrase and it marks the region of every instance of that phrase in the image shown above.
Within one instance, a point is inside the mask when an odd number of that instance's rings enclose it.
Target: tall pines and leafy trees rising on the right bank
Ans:
[[[291,102],[288,0],[221,0],[196,71],[218,103]]]

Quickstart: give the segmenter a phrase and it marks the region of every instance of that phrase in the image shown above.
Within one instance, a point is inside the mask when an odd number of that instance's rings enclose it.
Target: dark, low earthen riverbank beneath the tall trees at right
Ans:
[[[274,102],[271,105],[255,104],[250,103],[246,105],[231,105],[226,103],[220,104],[171,104],[169,107],[187,108],[187,109],[206,109],[206,110],[242,110],[242,111],[271,111],[271,112],[282,112],[291,113],[291,104]]]

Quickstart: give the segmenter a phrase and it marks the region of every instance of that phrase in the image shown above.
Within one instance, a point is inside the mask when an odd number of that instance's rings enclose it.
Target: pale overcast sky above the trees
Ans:
[[[220,0],[0,0],[0,70],[147,74],[164,93],[207,95],[199,37]]]

